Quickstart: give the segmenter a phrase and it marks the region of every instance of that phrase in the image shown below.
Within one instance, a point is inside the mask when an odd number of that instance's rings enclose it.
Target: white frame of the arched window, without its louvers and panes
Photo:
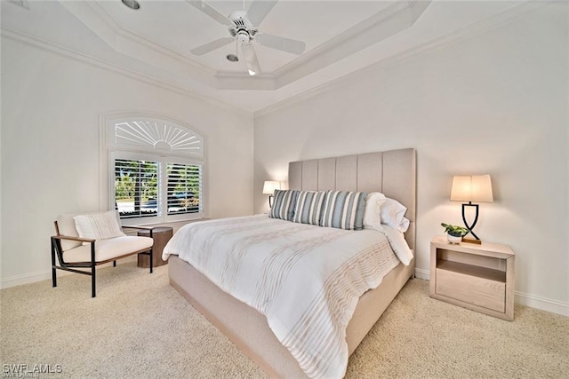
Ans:
[[[155,146],[136,146],[135,144],[121,144],[116,139],[115,128],[121,122],[157,122],[164,128],[174,128],[182,130],[196,138],[199,142],[199,151],[188,154],[185,151],[165,149],[164,143],[156,143]],[[156,114],[106,114],[100,118],[100,209],[115,209],[115,160],[128,159],[135,161],[158,162],[158,196],[156,201],[160,201],[158,215],[145,217],[122,217],[123,225],[156,225],[187,222],[207,217],[207,164],[205,159],[205,138],[203,135],[190,129],[181,122]],[[147,144],[148,145],[148,144]],[[158,146],[158,147],[156,147]],[[103,160],[102,157],[105,157]],[[106,162],[103,162],[106,161]],[[167,208],[167,164],[178,163],[188,165],[198,165],[201,168],[201,193],[200,209],[198,212],[168,215]],[[104,189],[103,189],[104,188]],[[106,193],[106,195],[103,195]]]

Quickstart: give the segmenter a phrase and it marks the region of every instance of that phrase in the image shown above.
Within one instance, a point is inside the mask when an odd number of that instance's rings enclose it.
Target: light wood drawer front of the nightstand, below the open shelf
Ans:
[[[437,294],[505,312],[506,283],[437,268]]]

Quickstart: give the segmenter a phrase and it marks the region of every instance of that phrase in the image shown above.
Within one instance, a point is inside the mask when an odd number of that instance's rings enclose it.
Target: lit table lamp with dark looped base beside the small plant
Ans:
[[[453,177],[451,201],[469,201],[468,204],[462,203],[462,221],[464,222],[466,228],[469,230],[469,233],[472,234],[475,239],[467,239],[462,236],[462,241],[478,244],[482,243],[478,236],[473,232],[474,226],[477,225],[478,221],[478,204],[473,204],[472,201],[493,202],[492,182],[490,180],[490,175]],[[469,223],[466,221],[466,207],[474,207],[476,211],[472,225],[469,225]]]

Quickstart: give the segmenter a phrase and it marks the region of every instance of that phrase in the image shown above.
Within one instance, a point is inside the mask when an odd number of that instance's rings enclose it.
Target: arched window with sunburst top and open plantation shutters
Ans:
[[[106,123],[109,207],[125,225],[204,217],[204,138],[164,120]]]

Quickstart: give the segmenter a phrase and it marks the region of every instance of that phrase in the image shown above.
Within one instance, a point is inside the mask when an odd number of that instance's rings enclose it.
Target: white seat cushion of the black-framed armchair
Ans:
[[[154,240],[149,237],[124,236],[95,242],[95,261],[124,256],[125,254],[150,249]],[[91,262],[91,243],[65,251],[66,263]]]

